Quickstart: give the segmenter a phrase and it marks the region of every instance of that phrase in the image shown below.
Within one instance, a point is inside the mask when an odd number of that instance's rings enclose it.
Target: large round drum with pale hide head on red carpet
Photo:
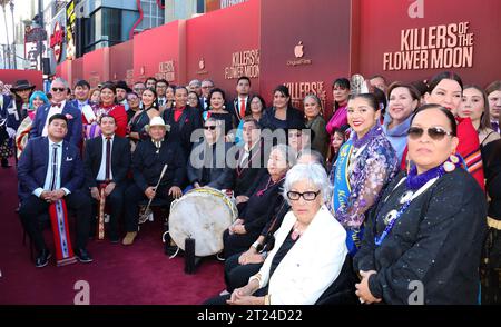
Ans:
[[[203,187],[193,189],[170,205],[169,234],[184,250],[185,239],[195,239],[195,256],[223,250],[223,232],[235,221],[238,210],[224,192]]]

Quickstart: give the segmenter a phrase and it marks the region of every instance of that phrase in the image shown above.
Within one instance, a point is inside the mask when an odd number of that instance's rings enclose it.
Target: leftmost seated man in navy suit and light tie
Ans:
[[[50,251],[43,241],[37,217],[47,212],[51,202],[65,199],[77,212],[77,250],[81,262],[91,262],[86,250],[89,237],[90,199],[81,190],[84,167],[79,149],[65,141],[67,118],[56,113],[49,118],[48,137],[31,139],[18,165],[21,222],[38,250],[35,265],[45,267]]]

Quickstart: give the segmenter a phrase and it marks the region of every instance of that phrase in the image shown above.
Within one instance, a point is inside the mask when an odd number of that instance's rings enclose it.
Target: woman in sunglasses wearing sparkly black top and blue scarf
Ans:
[[[455,119],[425,105],[409,129],[414,164],[385,189],[354,258],[361,303],[477,304],[485,198],[455,156]]]

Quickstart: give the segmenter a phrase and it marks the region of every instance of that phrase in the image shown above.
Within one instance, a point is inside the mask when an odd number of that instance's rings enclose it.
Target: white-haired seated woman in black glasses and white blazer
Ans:
[[[325,207],[331,190],[320,165],[297,165],[285,178],[292,211],[275,234],[259,272],[232,295],[206,304],[313,305],[337,279],[347,255],[346,231]]]

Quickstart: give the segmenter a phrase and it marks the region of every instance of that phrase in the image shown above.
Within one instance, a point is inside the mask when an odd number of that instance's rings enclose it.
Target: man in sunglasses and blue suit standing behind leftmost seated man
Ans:
[[[50,86],[50,93],[52,95],[51,103],[43,105],[37,110],[35,120],[31,125],[30,139],[36,137],[46,137],[49,126],[49,119],[56,113],[62,113],[68,120],[68,133],[65,140],[75,145],[80,146],[82,138],[81,129],[81,112],[75,107],[72,101],[67,101],[67,89],[68,82],[61,78],[57,78],[52,81]]]

